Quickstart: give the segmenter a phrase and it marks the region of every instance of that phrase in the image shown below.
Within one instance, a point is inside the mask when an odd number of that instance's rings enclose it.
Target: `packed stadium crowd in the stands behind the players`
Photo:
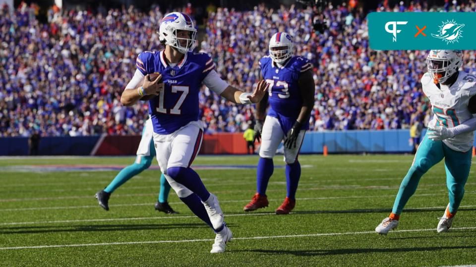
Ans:
[[[447,1],[447,11],[474,11],[475,2]],[[215,11],[216,10],[216,11]],[[295,55],[314,64],[315,106],[311,130],[409,128],[429,121],[429,102],[419,85],[426,51],[369,49],[365,13],[345,4],[324,10],[328,29],[312,29],[314,10],[258,5],[254,10],[210,9],[200,50],[208,52],[230,84],[251,90],[260,79],[258,61],[276,31],[294,36]],[[380,11],[429,10],[403,2]],[[187,6],[184,12],[193,13]],[[191,14],[193,15],[193,14]],[[158,6],[148,13],[132,6],[91,12],[48,12],[40,23],[35,8],[0,9],[0,136],[140,134],[147,103],[124,107],[119,98],[143,50],[159,50]],[[475,72],[474,52],[465,70]],[[242,132],[254,107],[237,106],[203,87],[206,133]]]

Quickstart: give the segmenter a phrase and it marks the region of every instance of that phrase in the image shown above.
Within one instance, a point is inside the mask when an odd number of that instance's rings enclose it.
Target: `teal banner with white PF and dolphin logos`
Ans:
[[[476,49],[476,12],[372,12],[375,50]]]

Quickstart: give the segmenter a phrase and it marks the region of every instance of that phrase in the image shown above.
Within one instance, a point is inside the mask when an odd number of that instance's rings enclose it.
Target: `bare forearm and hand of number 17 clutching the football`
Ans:
[[[153,81],[150,81],[149,74],[144,77],[142,86],[139,88],[126,88],[121,96],[120,102],[124,106],[131,106],[140,100],[149,100],[158,95],[164,89],[164,84],[160,83],[162,75],[159,74]]]

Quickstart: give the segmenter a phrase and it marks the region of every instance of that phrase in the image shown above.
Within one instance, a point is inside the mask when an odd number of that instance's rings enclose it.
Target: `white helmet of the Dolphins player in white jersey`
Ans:
[[[461,50],[431,50],[426,64],[433,82],[444,83],[463,65],[463,53]]]

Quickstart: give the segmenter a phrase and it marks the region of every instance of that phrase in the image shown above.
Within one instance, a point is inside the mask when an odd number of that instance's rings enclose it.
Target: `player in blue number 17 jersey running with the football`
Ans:
[[[263,98],[268,85],[260,81],[252,93],[228,85],[215,71],[208,54],[192,52],[196,33],[188,15],[180,12],[165,15],[159,27],[159,39],[165,49],[139,54],[137,70],[120,100],[124,105],[132,105],[139,99],[149,100],[160,169],[183,203],[215,231],[210,252],[220,253],[225,251],[232,232],[224,222],[217,197],[208,192],[190,168],[200,150],[203,134],[198,93],[204,84],[234,103],[251,104]]]

